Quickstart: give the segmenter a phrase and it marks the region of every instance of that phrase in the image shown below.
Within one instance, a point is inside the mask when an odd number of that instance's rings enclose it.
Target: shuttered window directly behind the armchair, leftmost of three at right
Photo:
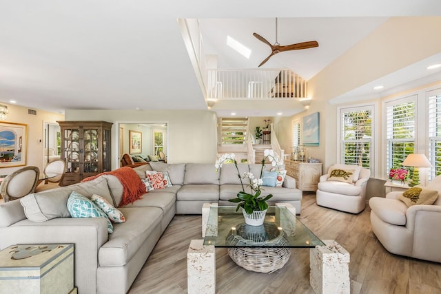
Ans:
[[[340,162],[373,173],[373,105],[340,109]]]

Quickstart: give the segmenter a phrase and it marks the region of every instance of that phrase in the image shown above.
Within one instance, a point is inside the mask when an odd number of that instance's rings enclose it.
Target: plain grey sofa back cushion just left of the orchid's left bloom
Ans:
[[[210,163],[187,163],[185,165],[184,185],[219,185],[219,173]]]

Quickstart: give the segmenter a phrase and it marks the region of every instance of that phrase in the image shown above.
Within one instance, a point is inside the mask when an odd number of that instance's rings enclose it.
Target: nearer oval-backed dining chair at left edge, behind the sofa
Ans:
[[[38,167],[23,167],[6,176],[1,182],[0,194],[8,202],[34,193],[39,181],[40,170]]]

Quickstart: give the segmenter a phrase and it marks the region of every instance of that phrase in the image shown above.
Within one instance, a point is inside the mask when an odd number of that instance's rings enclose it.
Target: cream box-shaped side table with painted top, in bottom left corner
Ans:
[[[0,251],[0,294],[74,294],[74,244],[20,244]]]

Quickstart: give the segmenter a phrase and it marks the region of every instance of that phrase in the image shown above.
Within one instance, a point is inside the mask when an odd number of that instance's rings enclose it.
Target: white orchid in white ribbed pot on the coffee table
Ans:
[[[271,162],[271,165],[276,167],[276,169],[279,169],[279,167],[281,166],[280,158],[277,154],[274,154],[274,151],[265,150],[264,155],[265,158],[263,158],[262,167],[260,168],[260,178],[255,178],[254,175],[250,172],[243,173],[243,177],[240,176],[236,159],[234,159],[234,154],[223,154],[222,156],[220,156],[218,161],[216,161],[216,171],[218,171],[218,169],[222,167],[224,162],[234,162],[234,165],[236,166],[236,170],[238,172],[238,177],[240,179],[240,185],[242,186],[242,191],[239,191],[237,193],[236,198],[229,199],[228,201],[237,203],[236,211],[242,209],[243,216],[245,217],[245,222],[253,226],[263,224],[265,213],[268,209],[267,200],[272,197],[272,194],[269,194],[265,197],[260,196],[261,186],[263,184],[262,174],[263,167],[265,166],[265,160],[268,158]],[[251,193],[245,192],[245,187],[242,181],[243,178],[248,178]]]

